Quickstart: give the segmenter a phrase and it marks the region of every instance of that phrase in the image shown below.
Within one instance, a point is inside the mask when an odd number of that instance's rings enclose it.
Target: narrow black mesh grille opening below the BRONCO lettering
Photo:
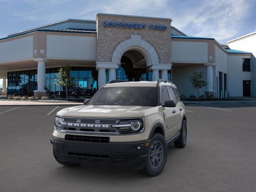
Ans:
[[[95,143],[109,143],[109,137],[100,137],[100,136],[66,135],[65,140],[95,142]]]

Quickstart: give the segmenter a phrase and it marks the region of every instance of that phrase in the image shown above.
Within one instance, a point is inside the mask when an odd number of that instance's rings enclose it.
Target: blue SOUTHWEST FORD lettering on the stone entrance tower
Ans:
[[[167,26],[165,25],[146,25],[146,24],[138,24],[138,23],[120,23],[120,22],[103,22],[104,27],[114,27],[114,28],[128,28],[128,29],[146,29],[147,27],[150,30],[159,30],[165,31],[167,30]]]

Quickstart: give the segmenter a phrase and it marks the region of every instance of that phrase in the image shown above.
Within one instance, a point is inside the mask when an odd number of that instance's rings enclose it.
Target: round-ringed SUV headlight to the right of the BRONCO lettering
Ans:
[[[116,125],[112,125],[112,127],[116,127],[120,133],[138,133],[142,130],[143,123],[139,119],[120,120]]]

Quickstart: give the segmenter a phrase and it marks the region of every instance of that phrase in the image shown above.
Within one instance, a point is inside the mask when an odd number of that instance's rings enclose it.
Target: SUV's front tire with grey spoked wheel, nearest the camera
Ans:
[[[157,148],[160,151],[158,154],[156,153],[158,150],[154,150]],[[168,148],[164,136],[158,133],[153,134],[150,147],[148,148],[148,157],[145,167],[141,172],[147,176],[159,175],[166,164],[168,156],[167,150]]]

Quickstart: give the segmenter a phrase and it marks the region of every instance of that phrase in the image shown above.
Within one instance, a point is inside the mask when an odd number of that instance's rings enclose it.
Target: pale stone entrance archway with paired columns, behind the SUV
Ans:
[[[118,44],[111,61],[96,62],[99,88],[111,80],[168,80],[171,64],[160,64],[156,50],[141,35],[130,36]]]

